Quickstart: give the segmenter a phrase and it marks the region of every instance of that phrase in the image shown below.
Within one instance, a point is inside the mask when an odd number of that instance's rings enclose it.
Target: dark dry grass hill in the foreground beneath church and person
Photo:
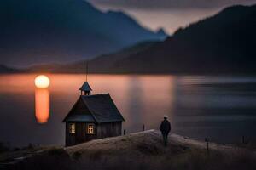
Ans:
[[[256,169],[255,153],[231,146],[205,144],[172,135],[168,147],[160,133],[147,131],[109,139],[98,139],[65,149],[52,149],[32,156],[13,169],[163,169],[238,170]]]

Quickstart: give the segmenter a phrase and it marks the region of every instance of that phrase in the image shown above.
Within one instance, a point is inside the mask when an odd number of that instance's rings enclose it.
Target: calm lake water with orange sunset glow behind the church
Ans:
[[[0,76],[0,141],[11,145],[64,144],[64,116],[79,98],[84,75]],[[125,117],[127,133],[159,128],[194,139],[240,143],[256,140],[256,77],[89,75],[93,94],[110,94]]]

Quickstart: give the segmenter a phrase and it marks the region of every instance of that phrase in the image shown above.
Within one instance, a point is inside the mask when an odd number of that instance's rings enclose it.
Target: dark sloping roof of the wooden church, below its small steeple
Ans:
[[[84,113],[73,113],[72,111],[66,116],[63,122],[123,122],[124,117],[121,115],[116,105],[113,103],[109,94],[81,95],[80,98],[84,106],[90,112],[90,116]],[[72,115],[72,116],[71,116]],[[73,116],[75,115],[75,116]],[[93,119],[91,119],[93,118]]]

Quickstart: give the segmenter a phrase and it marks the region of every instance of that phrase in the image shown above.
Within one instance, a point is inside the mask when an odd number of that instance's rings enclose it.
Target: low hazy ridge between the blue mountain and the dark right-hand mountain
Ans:
[[[52,72],[52,73],[84,73],[86,62],[89,64],[89,72],[91,73],[114,73],[115,63],[121,59],[128,58],[132,54],[137,54],[145,49],[152,47],[159,42],[140,42],[129,48],[121,49],[115,53],[102,54],[95,59],[81,60],[67,65],[35,65],[28,69],[22,70],[24,72]]]

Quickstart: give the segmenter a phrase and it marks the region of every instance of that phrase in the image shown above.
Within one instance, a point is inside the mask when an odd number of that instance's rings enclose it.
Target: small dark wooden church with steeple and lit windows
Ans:
[[[110,95],[90,95],[88,82],[79,90],[79,99],[62,121],[66,123],[66,145],[121,135],[125,119]]]

